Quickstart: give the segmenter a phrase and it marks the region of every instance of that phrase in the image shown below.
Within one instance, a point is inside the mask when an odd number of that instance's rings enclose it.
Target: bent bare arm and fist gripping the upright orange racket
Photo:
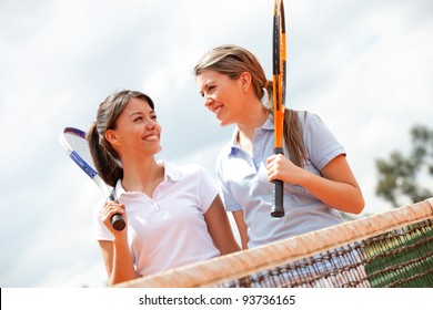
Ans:
[[[321,176],[294,165],[282,155],[268,158],[269,180],[282,179],[304,187],[326,205],[345,213],[360,214],[364,198],[344,155],[333,158]]]

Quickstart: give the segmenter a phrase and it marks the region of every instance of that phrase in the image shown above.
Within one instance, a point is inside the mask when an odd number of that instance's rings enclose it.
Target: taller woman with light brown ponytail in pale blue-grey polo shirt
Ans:
[[[204,106],[221,126],[235,125],[216,172],[243,248],[340,224],[340,211],[363,210],[345,151],[314,113],[285,110],[284,155],[273,155],[272,81],[251,52],[218,46],[202,56],[194,73]],[[270,216],[274,179],[284,182],[282,218]]]

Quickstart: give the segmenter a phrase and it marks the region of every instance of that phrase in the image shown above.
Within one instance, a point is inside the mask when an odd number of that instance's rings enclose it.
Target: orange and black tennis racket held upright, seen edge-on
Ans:
[[[285,106],[285,21],[283,0],[274,1],[273,10],[273,116],[274,154],[284,154],[283,122]],[[283,182],[273,180],[271,216],[283,217]]]

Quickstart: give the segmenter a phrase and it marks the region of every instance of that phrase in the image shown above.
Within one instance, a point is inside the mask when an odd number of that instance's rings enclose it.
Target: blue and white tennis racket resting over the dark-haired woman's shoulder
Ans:
[[[110,200],[117,200],[114,192],[109,187],[102,178],[98,175],[92,157],[89,151],[89,144],[85,140],[85,133],[72,128],[66,127],[60,133],[60,143],[67,151],[69,157],[98,185],[103,193],[104,197]],[[115,214],[111,217],[111,224],[115,230],[123,230],[125,223],[120,214]]]

